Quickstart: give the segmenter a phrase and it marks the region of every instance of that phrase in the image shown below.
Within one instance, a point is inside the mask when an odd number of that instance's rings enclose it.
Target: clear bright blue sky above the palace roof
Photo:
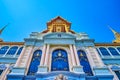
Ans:
[[[86,32],[95,42],[112,42],[111,26],[120,32],[120,0],[0,0],[0,36],[4,41],[24,41],[31,32],[46,29],[46,22],[62,16],[72,30]]]

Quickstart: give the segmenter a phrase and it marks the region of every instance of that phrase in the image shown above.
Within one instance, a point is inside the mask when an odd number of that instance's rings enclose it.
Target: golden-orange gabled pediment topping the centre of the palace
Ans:
[[[47,30],[42,33],[47,32],[65,32],[65,33],[75,33],[70,29],[71,23],[62,17],[58,16],[47,23]]]

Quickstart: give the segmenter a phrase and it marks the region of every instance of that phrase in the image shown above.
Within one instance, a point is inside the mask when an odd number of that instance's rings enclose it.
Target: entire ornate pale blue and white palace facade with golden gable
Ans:
[[[0,41],[1,80],[120,80],[120,34],[95,43],[56,17],[24,42]]]

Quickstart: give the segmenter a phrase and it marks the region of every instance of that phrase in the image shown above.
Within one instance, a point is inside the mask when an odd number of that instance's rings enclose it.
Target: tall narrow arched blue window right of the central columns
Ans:
[[[86,53],[82,50],[78,50],[77,53],[80,60],[80,64],[83,66],[83,71],[86,73],[86,75],[92,76],[92,70],[87,59]]]

